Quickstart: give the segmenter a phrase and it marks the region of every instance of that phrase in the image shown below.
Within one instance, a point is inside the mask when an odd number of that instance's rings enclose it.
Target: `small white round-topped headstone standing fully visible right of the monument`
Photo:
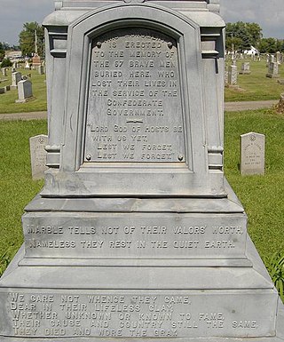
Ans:
[[[264,174],[265,136],[255,132],[241,135],[241,174]]]

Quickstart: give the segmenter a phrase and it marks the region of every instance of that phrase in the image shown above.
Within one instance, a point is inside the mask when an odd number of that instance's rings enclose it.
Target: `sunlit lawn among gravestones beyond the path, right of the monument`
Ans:
[[[265,61],[238,60],[238,71],[241,63],[250,61],[250,75],[238,75],[238,87],[225,88],[225,101],[256,101],[280,99],[284,85],[278,83],[279,78],[266,77],[268,68]],[[284,64],[279,68],[280,79],[284,79]]]

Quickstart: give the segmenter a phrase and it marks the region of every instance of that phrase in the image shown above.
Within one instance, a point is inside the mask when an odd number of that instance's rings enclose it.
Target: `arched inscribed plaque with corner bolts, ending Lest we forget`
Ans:
[[[185,162],[184,134],[177,42],[146,28],[94,39],[84,161]]]

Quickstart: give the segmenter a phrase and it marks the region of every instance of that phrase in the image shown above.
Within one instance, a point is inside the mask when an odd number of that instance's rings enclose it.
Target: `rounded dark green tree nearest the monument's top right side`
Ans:
[[[231,51],[233,46],[235,51],[243,52],[251,45],[256,47],[261,37],[262,28],[256,22],[228,22],[225,31],[225,47],[227,51]]]

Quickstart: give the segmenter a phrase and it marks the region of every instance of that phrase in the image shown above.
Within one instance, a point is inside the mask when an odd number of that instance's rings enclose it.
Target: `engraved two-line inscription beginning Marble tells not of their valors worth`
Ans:
[[[115,224],[114,224],[115,222]],[[246,242],[245,220],[200,215],[129,216],[85,214],[84,219],[23,218],[28,256],[89,258],[218,258],[241,257]]]

